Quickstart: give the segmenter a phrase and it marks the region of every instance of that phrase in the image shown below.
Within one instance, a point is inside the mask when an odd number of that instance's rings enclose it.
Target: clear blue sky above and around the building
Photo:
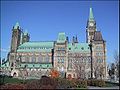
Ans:
[[[7,56],[16,22],[27,29],[31,41],[57,40],[58,33],[65,32],[70,40],[77,35],[79,42],[86,42],[90,6],[106,40],[107,62],[113,62],[119,48],[118,1],[2,1],[1,57]]]

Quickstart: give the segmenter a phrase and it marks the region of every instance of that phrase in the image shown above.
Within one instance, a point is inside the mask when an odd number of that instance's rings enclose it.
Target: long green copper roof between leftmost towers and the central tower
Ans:
[[[18,47],[17,52],[51,52],[54,42],[25,42]]]

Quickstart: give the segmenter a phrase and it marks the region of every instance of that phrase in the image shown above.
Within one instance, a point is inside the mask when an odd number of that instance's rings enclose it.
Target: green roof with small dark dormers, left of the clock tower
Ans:
[[[69,52],[90,52],[88,43],[69,43],[67,48]]]

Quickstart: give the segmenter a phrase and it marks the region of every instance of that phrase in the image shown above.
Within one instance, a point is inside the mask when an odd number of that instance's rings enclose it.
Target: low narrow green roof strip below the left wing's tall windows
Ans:
[[[52,64],[51,63],[47,63],[47,64],[20,64],[21,68],[24,68],[25,65],[27,66],[27,68],[52,68]]]

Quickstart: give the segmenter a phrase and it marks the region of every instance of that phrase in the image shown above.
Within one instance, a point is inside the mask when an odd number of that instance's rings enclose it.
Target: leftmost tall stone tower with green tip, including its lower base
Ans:
[[[17,53],[17,48],[20,45],[20,41],[21,41],[21,29],[19,23],[17,22],[12,29],[11,49],[8,55],[11,70],[15,68],[16,53]]]

